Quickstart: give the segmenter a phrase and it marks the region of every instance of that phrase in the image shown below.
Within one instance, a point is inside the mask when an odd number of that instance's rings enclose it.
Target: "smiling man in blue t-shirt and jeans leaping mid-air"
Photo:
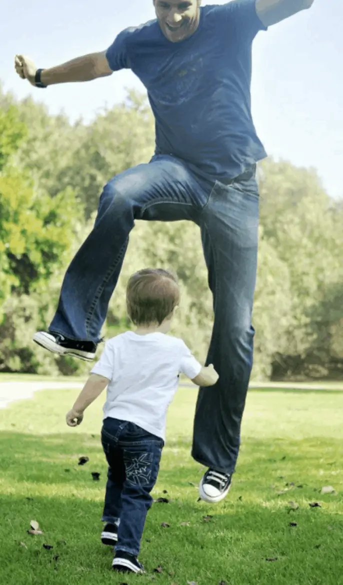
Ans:
[[[200,4],[155,0],[157,18],[123,30],[106,51],[48,69],[17,55],[15,68],[41,88],[128,68],[148,91],[155,155],[105,185],[94,228],[67,269],[49,331],[37,332],[34,340],[51,352],[92,360],[135,219],[197,223],[215,314],[206,363],[214,364],[219,380],[211,391],[200,388],[192,456],[208,467],[200,495],[214,503],[231,486],[253,359],[255,171],[266,153],[251,116],[252,42],[260,30],[310,8],[313,0]]]

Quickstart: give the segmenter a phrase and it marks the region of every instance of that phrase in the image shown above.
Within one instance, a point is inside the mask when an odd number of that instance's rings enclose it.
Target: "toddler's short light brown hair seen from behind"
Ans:
[[[163,269],[139,270],[131,276],[126,288],[126,308],[135,325],[161,325],[179,300],[176,276]]]

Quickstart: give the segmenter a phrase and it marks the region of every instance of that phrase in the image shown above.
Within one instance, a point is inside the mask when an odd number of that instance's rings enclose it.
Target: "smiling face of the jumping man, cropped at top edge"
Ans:
[[[163,35],[171,43],[193,35],[199,25],[201,0],[154,0]]]

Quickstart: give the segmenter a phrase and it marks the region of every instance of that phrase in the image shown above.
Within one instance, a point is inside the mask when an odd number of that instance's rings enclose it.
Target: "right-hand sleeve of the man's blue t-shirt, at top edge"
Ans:
[[[260,30],[267,30],[256,12],[256,0],[233,0],[223,6],[228,18],[228,25],[245,32],[253,39]]]

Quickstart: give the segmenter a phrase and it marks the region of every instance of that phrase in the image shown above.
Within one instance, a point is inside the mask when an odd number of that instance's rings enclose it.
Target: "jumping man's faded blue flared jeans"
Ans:
[[[253,359],[251,325],[258,252],[259,195],[255,167],[231,184],[195,176],[173,156],[158,155],[112,178],[102,191],[94,229],[68,267],[49,330],[100,339],[135,219],[200,226],[214,327],[207,364],[219,380],[200,388],[192,455],[232,473]],[[182,253],[182,250],[180,250]]]

